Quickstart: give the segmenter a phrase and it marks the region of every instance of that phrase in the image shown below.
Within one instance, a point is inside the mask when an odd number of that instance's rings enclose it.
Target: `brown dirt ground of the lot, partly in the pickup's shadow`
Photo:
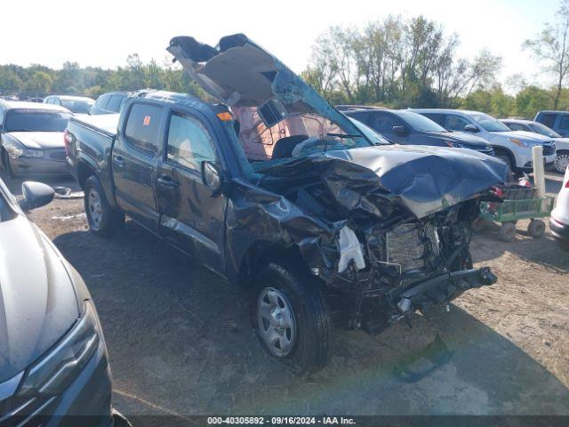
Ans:
[[[450,312],[416,316],[411,329],[338,331],[330,366],[301,380],[260,350],[241,289],[135,223],[96,238],[82,199],[55,200],[30,218],[91,289],[124,414],[569,414],[569,255],[551,238],[526,237],[525,223],[509,244],[492,230],[474,239],[495,286],[464,294]],[[437,334],[451,359],[415,383],[399,379],[397,363]]]

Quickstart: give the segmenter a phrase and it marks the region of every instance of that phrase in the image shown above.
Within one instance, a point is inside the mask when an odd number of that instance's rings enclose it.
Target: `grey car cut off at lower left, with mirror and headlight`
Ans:
[[[53,197],[38,182],[23,189],[27,209]],[[112,425],[108,355],[91,295],[1,180],[0,254],[0,425]]]

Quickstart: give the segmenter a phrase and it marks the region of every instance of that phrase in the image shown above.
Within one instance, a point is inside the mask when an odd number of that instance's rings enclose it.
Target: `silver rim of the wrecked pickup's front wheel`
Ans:
[[[296,321],[288,298],[273,287],[260,291],[257,299],[259,332],[268,350],[284,357],[293,350],[296,339]]]

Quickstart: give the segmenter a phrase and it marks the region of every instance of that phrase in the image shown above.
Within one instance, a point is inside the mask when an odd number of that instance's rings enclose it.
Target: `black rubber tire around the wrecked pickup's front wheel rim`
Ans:
[[[257,338],[269,356],[296,375],[316,373],[325,367],[332,354],[333,318],[319,286],[317,278],[295,268],[292,262],[271,262],[254,280],[252,312]],[[266,305],[269,301],[262,297],[272,291],[280,295],[279,305],[289,304],[293,312],[294,334],[289,350],[283,348],[285,354],[276,354],[276,346],[264,338],[268,327],[273,326],[268,326],[261,316],[261,300]],[[287,329],[283,334],[288,333]]]

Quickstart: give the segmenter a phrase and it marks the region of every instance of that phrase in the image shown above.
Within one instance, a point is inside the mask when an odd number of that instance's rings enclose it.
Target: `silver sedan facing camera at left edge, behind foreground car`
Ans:
[[[71,113],[63,107],[0,100],[0,160],[12,177],[68,174],[63,131]]]

